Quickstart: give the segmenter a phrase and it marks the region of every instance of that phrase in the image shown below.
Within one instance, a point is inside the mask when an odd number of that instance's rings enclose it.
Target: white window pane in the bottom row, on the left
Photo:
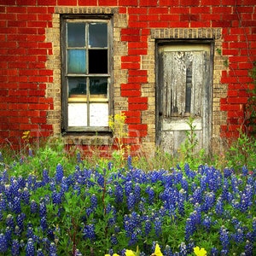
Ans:
[[[86,103],[68,103],[68,126],[87,126]]]

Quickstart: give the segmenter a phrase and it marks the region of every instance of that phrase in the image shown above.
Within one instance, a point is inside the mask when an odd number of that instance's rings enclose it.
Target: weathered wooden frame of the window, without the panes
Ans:
[[[108,97],[95,102],[108,102],[108,116],[113,114],[113,19],[112,15],[61,15],[61,132],[63,133],[82,133],[82,134],[96,134],[96,133],[109,133],[109,126],[68,126],[68,96],[67,96],[67,78],[76,77],[76,74],[70,76],[67,74],[67,22],[103,22],[108,24],[108,73],[83,73],[78,74],[79,77],[89,78],[107,78],[108,79]],[[87,25],[86,25],[87,26]],[[87,46],[85,46],[87,47]],[[89,65],[88,63],[86,65]],[[74,101],[78,102],[78,101]],[[87,106],[93,101],[84,101]]]

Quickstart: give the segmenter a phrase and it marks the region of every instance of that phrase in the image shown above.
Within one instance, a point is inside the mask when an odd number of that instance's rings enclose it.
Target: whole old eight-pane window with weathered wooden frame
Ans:
[[[110,19],[63,17],[62,130],[108,131]]]

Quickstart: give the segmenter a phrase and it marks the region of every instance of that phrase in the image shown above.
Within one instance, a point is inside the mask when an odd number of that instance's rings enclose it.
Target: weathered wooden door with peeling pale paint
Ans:
[[[176,154],[194,118],[197,149],[210,149],[212,135],[211,44],[159,45],[157,144]]]

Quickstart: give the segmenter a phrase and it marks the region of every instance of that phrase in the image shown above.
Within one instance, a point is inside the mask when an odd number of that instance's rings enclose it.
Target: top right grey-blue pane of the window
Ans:
[[[108,47],[107,23],[89,24],[89,47]]]

